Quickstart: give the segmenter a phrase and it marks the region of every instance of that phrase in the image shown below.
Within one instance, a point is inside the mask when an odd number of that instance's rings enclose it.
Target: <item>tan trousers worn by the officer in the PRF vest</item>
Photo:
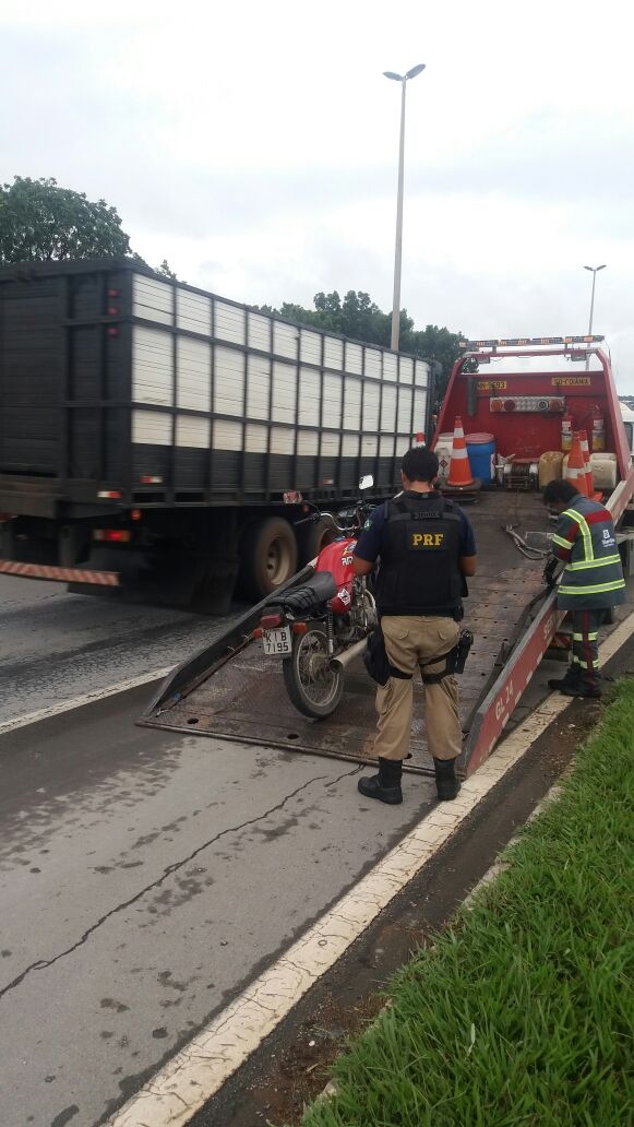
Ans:
[[[387,615],[381,620],[391,665],[403,673],[440,673],[445,660],[439,654],[452,649],[459,635],[453,619],[427,615]],[[462,751],[458,686],[452,675],[426,685],[425,726],[429,754],[436,760],[454,760]],[[374,749],[384,760],[404,760],[410,749],[413,681],[390,677],[376,691],[378,722]]]

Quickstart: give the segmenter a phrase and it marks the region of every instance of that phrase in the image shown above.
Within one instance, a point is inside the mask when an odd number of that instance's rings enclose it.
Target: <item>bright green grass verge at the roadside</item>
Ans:
[[[303,1127],[631,1127],[634,682]]]

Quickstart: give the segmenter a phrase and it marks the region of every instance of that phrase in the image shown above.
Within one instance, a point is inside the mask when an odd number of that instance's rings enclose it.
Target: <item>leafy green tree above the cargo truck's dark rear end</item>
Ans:
[[[0,264],[130,254],[130,238],[105,199],[91,203],[51,177],[16,176],[0,187]]]

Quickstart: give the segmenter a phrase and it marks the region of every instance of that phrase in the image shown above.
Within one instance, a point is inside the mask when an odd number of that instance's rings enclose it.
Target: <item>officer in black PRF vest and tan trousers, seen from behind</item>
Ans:
[[[356,575],[381,564],[376,600],[391,674],[376,692],[378,774],[359,779],[358,787],[367,798],[391,805],[403,800],[417,666],[438,798],[453,799],[459,790],[458,687],[447,657],[458,640],[464,577],[475,574],[475,539],[463,511],[434,489],[437,476],[432,451],[409,450],[401,465],[403,491],[370,513],[355,550]]]

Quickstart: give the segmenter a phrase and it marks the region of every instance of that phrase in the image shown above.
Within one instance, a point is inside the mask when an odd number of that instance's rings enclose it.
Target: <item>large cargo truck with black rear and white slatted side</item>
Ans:
[[[0,270],[0,571],[226,610],[314,557],[302,502],[375,496],[430,364],[128,260]]]

